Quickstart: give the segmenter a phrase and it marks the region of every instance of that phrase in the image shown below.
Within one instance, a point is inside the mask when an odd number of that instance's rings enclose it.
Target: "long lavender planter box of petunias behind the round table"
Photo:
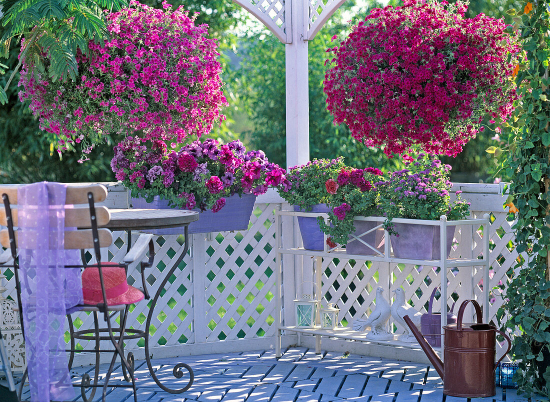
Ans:
[[[151,203],[145,201],[144,198],[131,198],[130,200],[132,208],[160,208],[161,210],[172,208],[168,206],[167,200],[161,200],[158,195],[153,197]],[[226,197],[226,205],[218,212],[212,212],[210,210],[201,212],[199,214],[199,220],[191,222],[189,225],[189,234],[224,232],[226,230],[246,230],[248,229],[248,223],[250,222],[250,216],[254,210],[255,202],[256,196],[254,194],[243,194],[243,197],[239,197],[238,194],[235,194]],[[200,210],[194,208],[193,211]],[[143,230],[142,232],[163,235],[183,234],[183,230],[183,228],[170,228]]]

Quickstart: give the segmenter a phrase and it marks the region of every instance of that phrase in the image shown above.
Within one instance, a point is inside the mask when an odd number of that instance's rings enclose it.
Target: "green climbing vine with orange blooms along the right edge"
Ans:
[[[514,269],[517,274],[508,285],[508,300],[499,315],[507,312],[505,326],[521,331],[512,349],[520,360],[516,376],[520,392],[549,397],[550,368],[542,373],[537,362],[543,360],[543,349],[550,350],[550,2],[533,1],[510,14],[516,14],[514,28],[521,31],[526,59],[516,77],[521,98],[508,122],[510,152],[503,168],[513,178],[510,194],[519,210],[514,225],[516,251],[526,257]]]

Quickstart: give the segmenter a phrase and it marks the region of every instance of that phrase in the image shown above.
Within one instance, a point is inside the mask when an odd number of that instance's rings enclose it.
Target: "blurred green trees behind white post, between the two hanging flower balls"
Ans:
[[[370,7],[376,5],[370,3]],[[332,46],[331,37],[349,29],[345,21],[350,13],[355,12],[355,18],[364,18],[370,7],[357,10],[355,3],[348,0],[309,42],[310,156],[344,156],[350,166],[393,169],[398,166],[397,159],[388,159],[381,150],[358,144],[347,126],[334,126],[323,93],[324,61],[326,49]],[[240,65],[232,77],[252,123],[252,128],[243,133],[246,140],[281,166],[286,163],[284,51],[284,44],[273,35],[265,31],[249,32],[241,39]]]

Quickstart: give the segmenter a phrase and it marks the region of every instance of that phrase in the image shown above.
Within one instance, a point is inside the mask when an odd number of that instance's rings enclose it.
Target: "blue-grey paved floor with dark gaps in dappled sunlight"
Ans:
[[[173,388],[189,377],[172,375],[175,364],[193,367],[195,381],[183,394],[163,392],[153,381],[144,361],[136,361],[138,401],[151,402],[519,402],[527,401],[514,389],[497,387],[492,398],[454,398],[443,395],[437,373],[427,365],[360,355],[289,348],[281,359],[273,350],[155,359],[158,378]],[[102,377],[108,366],[101,366]],[[75,382],[93,367],[75,367]],[[123,383],[120,365],[109,384]],[[28,387],[25,389],[28,393]],[[78,391],[79,392],[79,391]],[[25,395],[24,395],[25,396]],[[79,397],[75,401],[81,401]],[[93,400],[101,400],[98,389]],[[108,402],[131,402],[131,388],[110,388]],[[541,399],[542,400],[542,399]],[[532,402],[536,402],[535,399]]]

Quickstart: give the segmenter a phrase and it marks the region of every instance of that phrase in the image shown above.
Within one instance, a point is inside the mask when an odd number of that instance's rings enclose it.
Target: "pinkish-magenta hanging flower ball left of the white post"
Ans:
[[[59,152],[75,143],[86,152],[107,135],[134,131],[149,140],[182,142],[224,118],[216,41],[182,7],[163,6],[131,1],[108,13],[110,37],[103,44],[90,41],[89,54],[78,55],[76,81],[52,80],[47,60],[26,60],[21,100],[57,137]]]

